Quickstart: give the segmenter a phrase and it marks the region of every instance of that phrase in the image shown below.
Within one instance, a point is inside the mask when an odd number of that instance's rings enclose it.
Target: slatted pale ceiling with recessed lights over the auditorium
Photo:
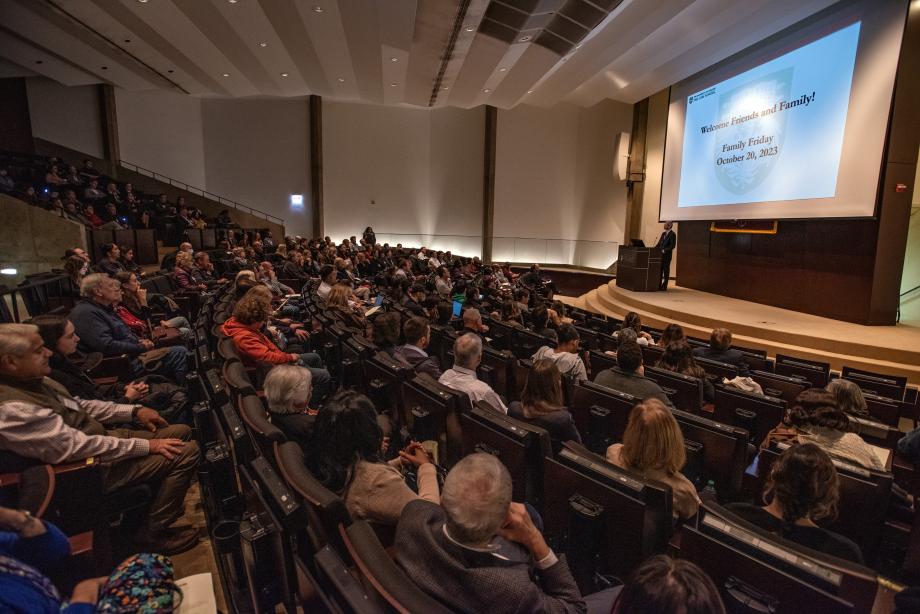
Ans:
[[[637,102],[836,0],[0,0],[0,77],[203,97]]]

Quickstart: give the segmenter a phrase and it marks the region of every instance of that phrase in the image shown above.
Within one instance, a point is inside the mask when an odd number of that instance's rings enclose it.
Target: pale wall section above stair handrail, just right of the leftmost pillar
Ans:
[[[201,99],[162,90],[116,89],[115,109],[122,160],[198,188],[206,186]]]

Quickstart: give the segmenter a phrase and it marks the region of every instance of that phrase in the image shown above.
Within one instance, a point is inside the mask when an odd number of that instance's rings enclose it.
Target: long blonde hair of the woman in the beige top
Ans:
[[[684,436],[665,404],[646,399],[629,412],[620,458],[629,469],[659,470],[674,475],[687,462]]]

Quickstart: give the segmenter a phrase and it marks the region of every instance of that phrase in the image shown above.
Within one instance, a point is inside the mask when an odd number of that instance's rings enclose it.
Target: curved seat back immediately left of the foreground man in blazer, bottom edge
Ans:
[[[375,606],[386,612],[449,612],[400,569],[368,523],[356,520],[344,529],[342,539],[363,580],[365,592],[376,597]]]

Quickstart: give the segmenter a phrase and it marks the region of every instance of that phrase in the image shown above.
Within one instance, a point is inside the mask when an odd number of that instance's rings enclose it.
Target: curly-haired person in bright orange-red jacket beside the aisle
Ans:
[[[245,366],[254,367],[259,362],[265,362],[307,367],[313,375],[314,392],[325,392],[330,376],[329,371],[323,368],[323,359],[313,352],[289,354],[279,349],[263,331],[271,315],[271,300],[258,292],[249,291],[237,301],[233,316],[224,322],[221,330],[233,339]]]

